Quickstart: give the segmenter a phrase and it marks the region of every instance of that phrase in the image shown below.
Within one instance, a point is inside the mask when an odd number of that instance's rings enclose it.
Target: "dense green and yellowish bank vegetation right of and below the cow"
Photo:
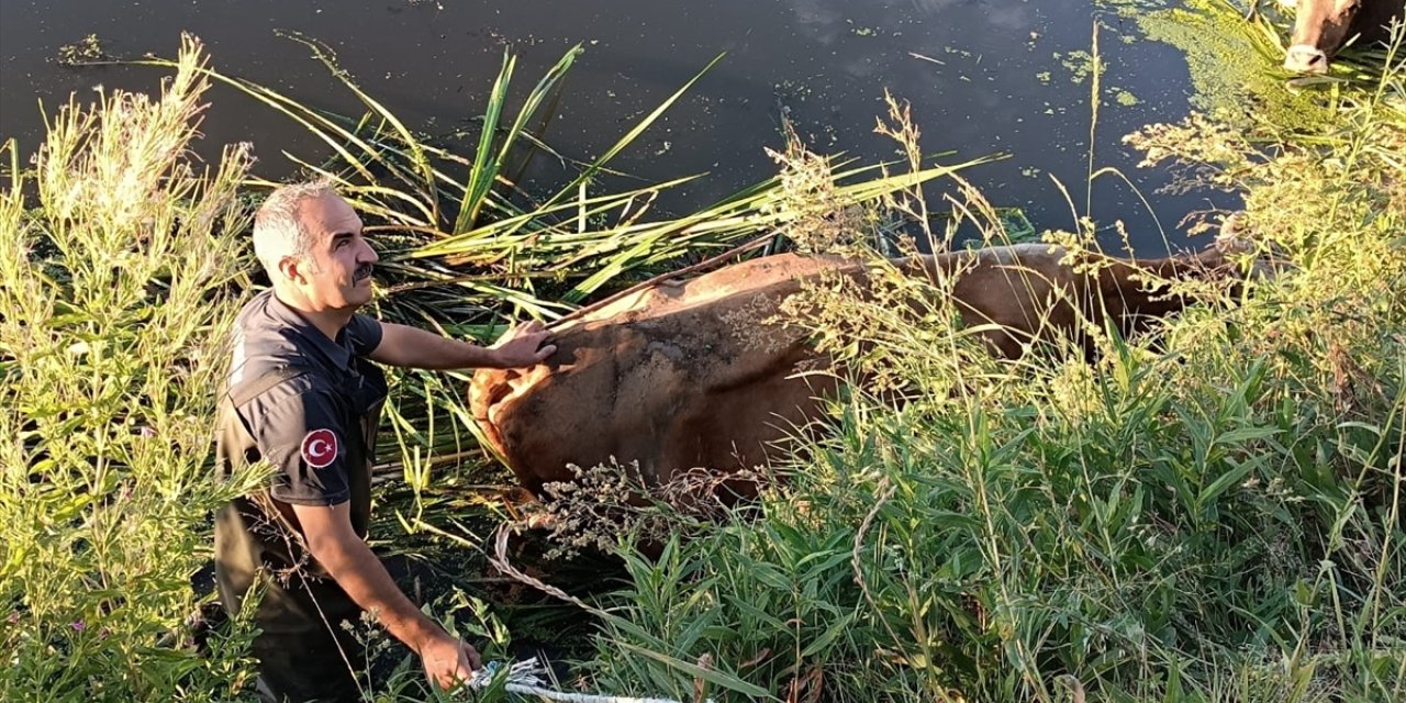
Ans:
[[[1278,262],[1156,343],[995,364],[941,285],[817,292],[803,322],[883,392],[837,401],[754,519],[659,560],[621,541],[598,681],[689,700],[675,662],[707,661],[786,702],[1406,697],[1406,72],[1382,69],[1270,156],[1275,125],[1130,138],[1240,190],[1239,235]]]

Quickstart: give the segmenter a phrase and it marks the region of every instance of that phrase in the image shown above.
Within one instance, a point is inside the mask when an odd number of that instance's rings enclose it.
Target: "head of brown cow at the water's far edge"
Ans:
[[[1385,42],[1392,21],[1402,20],[1406,0],[1279,0],[1298,6],[1294,38],[1284,67],[1298,73],[1326,73],[1333,55],[1357,37],[1357,45]]]

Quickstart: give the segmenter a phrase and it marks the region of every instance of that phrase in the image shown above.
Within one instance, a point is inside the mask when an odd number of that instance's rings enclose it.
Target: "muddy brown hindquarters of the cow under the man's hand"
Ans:
[[[647,288],[555,330],[547,363],[475,374],[474,416],[533,492],[568,464],[638,463],[650,484],[766,464],[835,387],[800,373],[821,361],[778,308],[839,270],[862,269],[780,254]]]

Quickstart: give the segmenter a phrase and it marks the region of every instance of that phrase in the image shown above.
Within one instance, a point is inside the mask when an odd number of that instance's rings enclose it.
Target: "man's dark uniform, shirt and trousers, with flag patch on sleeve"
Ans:
[[[264,291],[239,314],[233,364],[219,409],[219,461],[228,471],[267,460],[267,491],[235,501],[215,517],[215,574],[231,613],[250,586],[262,591],[253,654],[276,696],[356,697],[346,658],[359,664],[342,628],[360,609],[304,548],[292,505],[350,503],[366,537],[371,509],[375,426],[385,377],[366,356],[381,325],[354,315],[328,339]]]

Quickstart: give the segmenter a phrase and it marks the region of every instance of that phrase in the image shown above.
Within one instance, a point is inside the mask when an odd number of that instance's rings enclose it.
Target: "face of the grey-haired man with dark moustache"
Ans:
[[[375,250],[361,236],[361,218],[337,195],[307,198],[298,217],[312,235],[307,259],[295,263],[294,283],[312,309],[356,309],[371,301]]]

